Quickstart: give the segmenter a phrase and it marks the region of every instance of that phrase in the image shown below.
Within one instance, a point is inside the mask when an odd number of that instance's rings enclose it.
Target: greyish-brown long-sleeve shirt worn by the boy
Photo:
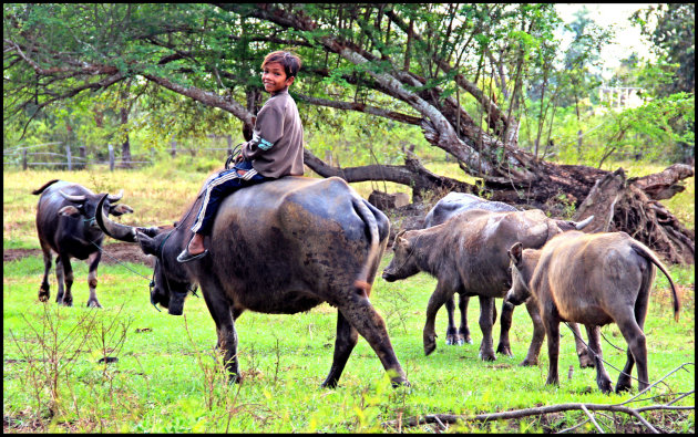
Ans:
[[[253,139],[243,145],[243,157],[252,160],[261,176],[302,176],[302,124],[288,90],[279,91],[264,104]]]

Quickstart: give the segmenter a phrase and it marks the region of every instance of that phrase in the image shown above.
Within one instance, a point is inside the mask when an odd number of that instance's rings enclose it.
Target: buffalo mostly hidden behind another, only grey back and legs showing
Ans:
[[[491,201],[483,198],[480,198],[474,195],[470,195],[468,193],[456,193],[452,191],[445,195],[441,200],[434,205],[434,207],[427,214],[424,218],[424,228],[431,228],[432,226],[441,225],[453,216],[456,216],[461,212],[469,211],[471,209],[485,209],[487,211],[517,211],[511,205],[506,205],[501,201]],[[461,313],[461,326],[459,329],[455,327],[455,318],[454,310],[455,303],[454,299],[451,296],[445,302],[446,312],[449,314],[449,325],[446,327],[446,344],[463,344],[470,343],[472,344],[472,339],[470,337],[470,329],[468,327],[468,303],[470,298],[460,294],[459,298],[459,310]],[[507,305],[506,309],[513,308]],[[504,309],[503,309],[504,311]],[[502,314],[503,320],[506,320],[507,314]],[[494,319],[496,319],[496,308],[494,309],[494,314],[492,322],[494,323]]]

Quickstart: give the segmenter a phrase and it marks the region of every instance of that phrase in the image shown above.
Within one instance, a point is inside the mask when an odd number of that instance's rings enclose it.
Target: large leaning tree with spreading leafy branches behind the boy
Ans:
[[[135,80],[230,113],[248,128],[269,50],[304,59],[295,97],[417,125],[499,200],[579,204],[606,171],[519,147],[531,59],[553,35],[552,4],[6,4],[4,103],[22,111]],[[8,86],[9,85],[9,86]],[[8,102],[8,98],[6,98]],[[320,176],[393,180],[418,198],[480,188],[406,165],[329,166]]]

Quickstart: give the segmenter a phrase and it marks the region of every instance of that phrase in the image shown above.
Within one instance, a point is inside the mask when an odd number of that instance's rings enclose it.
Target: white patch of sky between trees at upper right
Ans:
[[[605,63],[604,79],[610,79],[613,70],[620,64],[620,60],[637,52],[641,58],[651,59],[650,44],[640,34],[639,28],[633,25],[628,18],[638,9],[647,9],[657,3],[557,3],[555,9],[565,23],[574,21],[574,13],[584,7],[589,11],[589,18],[604,28],[612,28],[616,35],[602,51]],[[563,39],[563,46],[569,44],[571,34]]]

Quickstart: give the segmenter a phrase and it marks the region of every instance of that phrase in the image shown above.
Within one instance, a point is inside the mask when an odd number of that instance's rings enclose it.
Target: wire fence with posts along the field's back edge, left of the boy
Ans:
[[[183,153],[188,153],[192,156],[196,156],[199,153],[216,155],[220,153],[222,157],[225,158],[233,153],[233,138],[230,135],[207,135],[207,137],[211,138],[213,143],[219,143],[220,139],[225,139],[227,147],[182,147],[182,143],[172,141],[170,142],[167,153],[173,158]],[[49,148],[50,150],[64,150],[64,153],[35,152],[41,148]],[[116,157],[114,146],[111,144],[107,144],[105,148],[106,154],[104,154],[104,149],[97,149],[93,150],[92,156],[88,156],[88,148],[85,146],[75,147],[62,142],[42,143],[31,146],[17,146],[3,150],[2,167],[3,169],[21,167],[24,170],[30,167],[58,167],[65,168],[70,171],[84,169],[88,166],[109,165],[109,169],[113,171],[114,168],[138,168],[150,166],[155,163],[156,153],[152,147],[150,153],[131,154],[129,159],[124,159],[123,156]],[[222,152],[225,152],[225,155]]]

